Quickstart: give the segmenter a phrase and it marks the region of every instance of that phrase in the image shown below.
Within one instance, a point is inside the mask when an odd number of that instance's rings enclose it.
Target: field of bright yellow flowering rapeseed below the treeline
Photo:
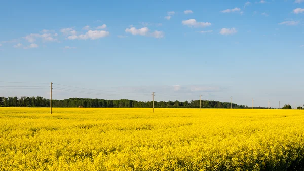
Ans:
[[[1,170],[301,170],[304,111],[0,108]]]

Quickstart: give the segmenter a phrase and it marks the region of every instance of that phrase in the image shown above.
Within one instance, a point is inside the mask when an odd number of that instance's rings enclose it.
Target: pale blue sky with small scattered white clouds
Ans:
[[[33,82],[0,96],[49,98],[36,83],[53,82],[55,99],[304,104],[303,0],[2,1],[0,15],[0,81]]]

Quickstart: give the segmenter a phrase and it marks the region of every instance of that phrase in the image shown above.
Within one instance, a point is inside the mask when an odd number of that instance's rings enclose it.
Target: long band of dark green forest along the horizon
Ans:
[[[104,100],[90,98],[69,98],[52,100],[52,107],[84,108],[151,108],[152,101]],[[43,97],[0,97],[0,107],[50,107],[50,100]],[[154,101],[155,108],[200,108],[200,100],[191,101]],[[230,102],[202,100],[202,108],[231,108]],[[245,105],[232,104],[232,108],[251,108]],[[264,107],[254,107],[264,108]]]

